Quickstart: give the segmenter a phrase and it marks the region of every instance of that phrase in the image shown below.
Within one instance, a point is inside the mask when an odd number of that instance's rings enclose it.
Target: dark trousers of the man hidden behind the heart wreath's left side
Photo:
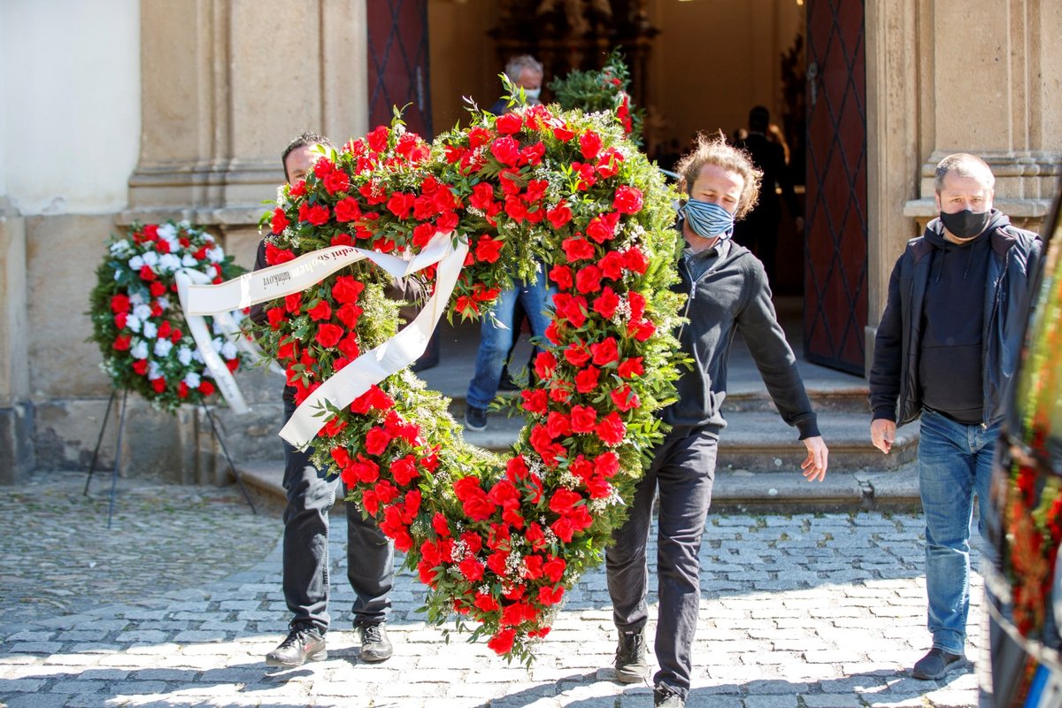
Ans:
[[[287,424],[295,410],[284,401]],[[328,510],[336,501],[339,477],[329,480],[310,462],[313,449],[299,452],[284,443],[284,599],[291,610],[291,626],[328,629]],[[391,609],[394,547],[373,519],[357,505],[346,505],[346,574],[354,588],[355,626],[378,624]]]

